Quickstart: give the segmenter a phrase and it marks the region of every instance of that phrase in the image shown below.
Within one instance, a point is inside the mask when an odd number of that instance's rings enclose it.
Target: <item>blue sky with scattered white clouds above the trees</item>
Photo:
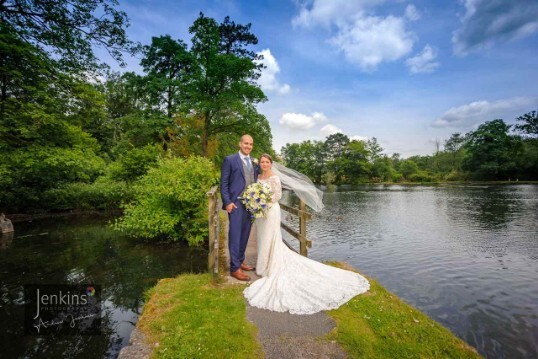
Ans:
[[[273,147],[340,131],[432,154],[452,133],[538,109],[537,0],[121,1],[132,40],[190,43],[200,11],[252,24]],[[127,70],[140,72],[138,59]]]

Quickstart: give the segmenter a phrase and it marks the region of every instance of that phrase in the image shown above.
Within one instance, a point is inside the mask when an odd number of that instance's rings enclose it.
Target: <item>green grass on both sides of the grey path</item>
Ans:
[[[370,291],[327,312],[336,328],[326,339],[350,358],[480,358],[448,329],[368,279]],[[246,319],[243,289],[217,285],[209,274],[159,281],[147,292],[137,324],[153,347],[152,357],[262,358],[257,330]]]

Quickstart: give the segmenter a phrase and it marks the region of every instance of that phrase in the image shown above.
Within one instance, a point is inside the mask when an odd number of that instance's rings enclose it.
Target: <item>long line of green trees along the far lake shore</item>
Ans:
[[[373,137],[350,140],[342,133],[325,141],[286,144],[286,164],[320,184],[538,180],[538,112],[507,125],[496,119],[476,131],[454,133],[429,156],[388,156]]]

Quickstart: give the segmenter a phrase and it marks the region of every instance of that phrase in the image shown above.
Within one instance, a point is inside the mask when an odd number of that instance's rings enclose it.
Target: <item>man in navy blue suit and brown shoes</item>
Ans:
[[[252,137],[243,135],[239,141],[239,152],[224,158],[220,179],[222,209],[228,212],[230,230],[228,247],[230,249],[230,275],[239,280],[248,281],[245,271],[254,270],[245,263],[245,249],[250,236],[250,214],[241,200],[245,188],[256,182],[258,171],[249,154],[254,145]]]

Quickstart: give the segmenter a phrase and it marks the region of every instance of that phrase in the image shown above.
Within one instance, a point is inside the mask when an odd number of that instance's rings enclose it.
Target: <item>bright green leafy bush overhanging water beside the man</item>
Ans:
[[[139,237],[199,244],[208,233],[206,193],[217,179],[206,158],[160,159],[135,182],[134,201],[124,205],[124,216],[114,228]]]

